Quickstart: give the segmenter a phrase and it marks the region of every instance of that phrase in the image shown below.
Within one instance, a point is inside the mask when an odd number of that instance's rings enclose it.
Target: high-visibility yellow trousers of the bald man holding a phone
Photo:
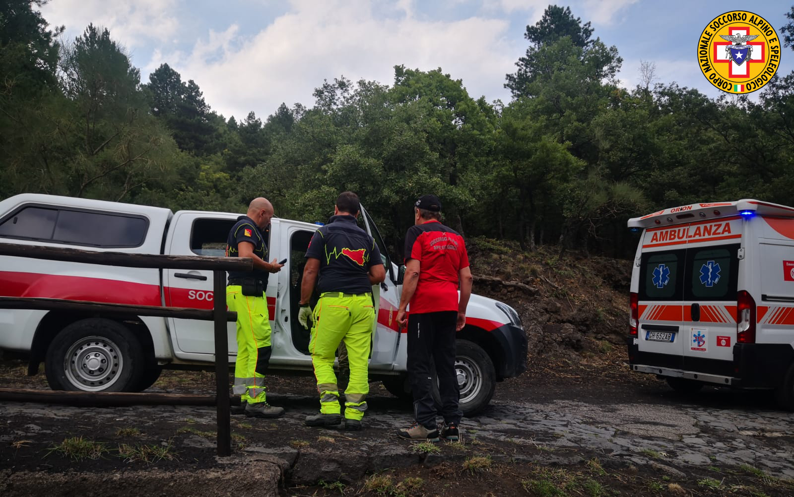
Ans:
[[[264,373],[270,363],[270,318],[264,295],[243,295],[240,285],[226,287],[226,306],[237,313],[237,361],[232,391],[243,402],[265,401]]]

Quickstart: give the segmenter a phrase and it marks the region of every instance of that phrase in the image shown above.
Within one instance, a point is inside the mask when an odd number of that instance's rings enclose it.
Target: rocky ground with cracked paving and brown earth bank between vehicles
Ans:
[[[310,378],[271,376],[276,420],[233,417],[215,456],[211,408],[0,404],[0,495],[792,495],[794,416],[765,392],[681,397],[630,373],[626,261],[532,256],[474,241],[475,291],[510,303],[529,370],[464,419],[462,443],[393,434],[410,406],[372,383],[364,430],[303,426]],[[490,269],[489,269],[490,268]],[[495,269],[494,269],[495,268]],[[46,388],[0,361],[0,386]],[[214,392],[207,372],[164,372],[152,391]]]

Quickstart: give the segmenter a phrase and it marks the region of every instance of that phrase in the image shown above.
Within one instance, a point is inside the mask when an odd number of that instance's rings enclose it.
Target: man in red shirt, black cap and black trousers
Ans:
[[[414,394],[415,422],[397,431],[400,437],[439,441],[460,438],[460,391],[455,372],[455,332],[466,324],[472,295],[472,272],[463,237],[442,225],[441,201],[422,195],[414,204],[414,225],[405,241],[406,272],[397,322],[408,326],[408,376]],[[458,288],[461,295],[458,298]],[[410,303],[410,310],[406,309]],[[441,412],[430,394],[435,364]],[[436,416],[444,425],[438,433]]]

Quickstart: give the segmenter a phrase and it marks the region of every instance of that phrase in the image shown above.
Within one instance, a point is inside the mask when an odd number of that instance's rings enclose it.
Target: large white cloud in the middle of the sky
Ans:
[[[148,67],[168,62],[184,80],[195,79],[215,110],[238,119],[249,110],[265,117],[281,102],[311,106],[314,88],[340,75],[390,84],[395,64],[441,67],[474,98],[509,96],[503,75],[514,71],[523,47],[511,45],[506,20],[420,21],[410,2],[400,6],[409,15],[381,19],[365,0],[294,0],[259,33],[244,37],[234,25],[210,31],[190,54],[156,52]]]

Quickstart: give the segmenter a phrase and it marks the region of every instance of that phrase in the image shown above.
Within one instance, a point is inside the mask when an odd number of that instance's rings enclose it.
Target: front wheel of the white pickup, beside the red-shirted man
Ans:
[[[496,372],[493,361],[473,341],[458,340],[455,357],[457,386],[461,389],[460,408],[463,415],[479,414],[494,395]]]

